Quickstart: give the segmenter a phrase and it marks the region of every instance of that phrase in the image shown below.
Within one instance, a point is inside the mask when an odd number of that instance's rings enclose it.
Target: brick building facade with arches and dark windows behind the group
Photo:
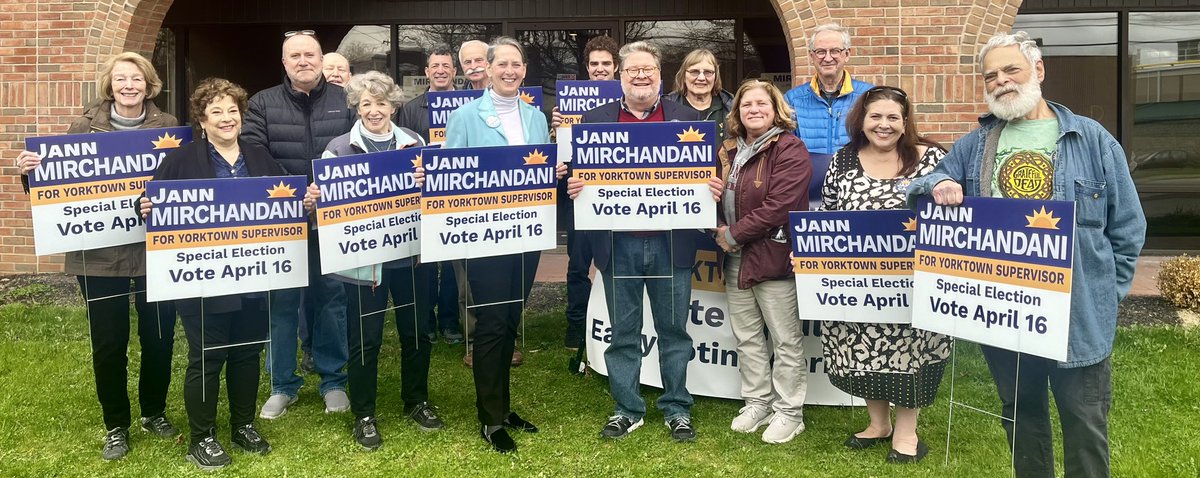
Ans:
[[[158,106],[187,118],[187,94],[205,77],[251,92],[278,84],[288,30],[316,30],[326,52],[392,74],[409,95],[424,89],[428,48],[511,35],[528,48],[527,85],[552,94],[554,80],[586,74],[582,46],[600,34],[656,43],[667,90],[697,47],[716,53],[727,89],[750,77],[803,83],[806,32],[833,20],[853,34],[851,72],[907,90],[922,131],[946,144],[985,110],[978,48],[997,31],[1030,31],[1044,47],[1045,96],[1099,120],[1129,154],[1147,247],[1200,249],[1200,137],[1190,133],[1200,0],[0,0],[0,274],[61,270],[61,256],[34,256],[12,160],[25,137],[65,132],[95,98],[98,66],[124,50],[154,60],[166,82]]]

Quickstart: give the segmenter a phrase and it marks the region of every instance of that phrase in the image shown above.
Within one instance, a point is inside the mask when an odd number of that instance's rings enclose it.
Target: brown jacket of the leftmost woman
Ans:
[[[146,110],[145,123],[139,130],[179,126],[179,120],[163,113],[151,101],[143,103]],[[67,135],[98,133],[115,131],[112,123],[113,101],[104,100],[91,103],[67,129]],[[29,177],[22,175],[20,183],[29,192]],[[67,252],[62,261],[62,271],[71,275],[90,275],[98,277],[137,277],[146,275],[146,243],[133,243],[112,247],[89,249],[88,251]]]

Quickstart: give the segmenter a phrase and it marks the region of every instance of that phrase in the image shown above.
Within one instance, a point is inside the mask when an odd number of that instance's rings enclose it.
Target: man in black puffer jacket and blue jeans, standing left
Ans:
[[[312,181],[312,160],[320,157],[330,139],[350,131],[355,114],[346,104],[346,90],[325,80],[320,42],[312,30],[283,34],[282,62],[287,72],[283,84],[250,98],[241,137],[265,147],[289,174],[302,174]],[[287,413],[304,384],[295,372],[301,306],[312,335],[313,364],[320,376],[325,412],[350,408],[344,370],[349,355],[346,291],[342,282],[320,274],[317,240],[317,231],[310,231],[308,287],[270,292],[271,396],[259,412],[265,419]]]

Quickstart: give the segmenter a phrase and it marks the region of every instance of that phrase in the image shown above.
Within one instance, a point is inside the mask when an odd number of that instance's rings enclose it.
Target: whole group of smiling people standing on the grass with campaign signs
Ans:
[[[202,82],[190,103],[200,138],[168,154],[155,179],[311,178],[311,161],[317,157],[428,142],[425,94],[401,106],[400,88],[390,77],[352,74],[344,58],[323,55],[311,30],[287,32],[282,52],[283,84],[253,97],[224,79]],[[1116,304],[1129,289],[1145,235],[1145,219],[1120,144],[1096,121],[1042,97],[1040,52],[1024,32],[1000,34],[980,50],[989,113],[949,153],[918,132],[914,103],[906,91],[851,77],[846,70],[851,37],[845,28],[817,26],[809,54],[816,73],[786,95],[758,79],[745,80],[730,94],[721,88],[718,59],[697,49],[686,55],[673,91],[664,96],[661,55],[653,44],[632,42],[618,48],[606,36],[587,43],[583,56],[589,78],[619,79],[623,95],[587,112],[584,123],[710,120],[721,131],[718,174],[708,181],[718,205],[715,229],[575,231],[568,222],[564,345],[582,346],[593,265],[604,282],[612,327],[605,362],[616,404],[600,436],[628,436],[647,417],[640,389],[646,294],[662,383],[656,407],[673,440],[696,438],[686,388],[692,353],[686,312],[691,270],[701,247],[721,251],[728,317],[737,337],[744,406],[731,418],[731,429],[750,434],[766,425],[762,440],[768,443],[785,443],[804,431],[806,368],[787,217],[790,211],[809,208],[810,153],[832,155],[826,177],[817,178],[826,210],[898,209],[923,195],[947,205],[961,203],[964,196],[1012,197],[1007,186],[1015,178],[1006,175],[1010,168],[1003,166],[1033,154],[1044,159],[1036,163],[1052,181],[1040,198],[1076,202],[1068,359],[1056,363],[994,347],[984,347],[984,357],[1002,402],[1018,476],[1054,476],[1048,383],[1062,419],[1067,474],[1108,476],[1109,355]],[[430,91],[454,89],[454,60],[446,48],[430,52]],[[509,37],[491,44],[470,41],[460,48],[458,61],[468,85],[485,91],[450,115],[448,148],[550,142],[551,127],[562,116],[556,110],[547,121],[521,101],[527,66],[518,42]],[[161,85],[144,58],[114,56],[98,80],[103,101],[89,107],[70,132],[176,125],[150,101]],[[18,157],[23,174],[38,162],[30,151]],[[587,187],[565,166],[558,174],[571,199]],[[318,197],[319,190],[310,187],[306,208],[311,210]],[[142,214],[152,207],[143,199]],[[509,380],[511,366],[518,364],[515,342],[538,252],[454,264],[427,264],[418,257],[322,275],[316,231],[310,238],[311,277],[305,289],[160,304],[145,301],[144,244],[67,255],[67,273],[78,276],[88,299],[96,388],[109,430],[106,459],[130,450],[127,294],[136,297],[143,348],[140,425],[163,437],[178,434],[164,410],[176,310],[182,318],[188,341],[187,458],[202,468],[229,462],[216,437],[222,366],[233,443],[252,453],[270,450],[253,425],[260,351],[269,336],[271,396],[259,416],[277,418],[295,402],[302,384],[295,374],[300,317],[311,321],[311,353],[326,412],[349,410],[352,435],[366,449],[382,444],[374,413],[378,355],[389,311],[395,313],[402,345],[401,396],[418,426],[445,426],[430,405],[428,336],[440,329],[450,339],[446,330],[462,327],[472,342],[467,363],[475,380],[481,438],[498,452],[512,452],[517,446],[510,430],[538,431],[512,410]],[[454,291],[449,300],[437,292],[439,285],[443,292],[446,286]],[[463,324],[432,324],[428,318],[436,304],[439,311],[458,312]],[[917,417],[935,400],[950,337],[906,324],[824,322],[822,328],[832,383],[866,400],[868,425],[850,434],[845,446],[866,449],[888,443],[888,462],[925,456],[929,447],[917,435]]]

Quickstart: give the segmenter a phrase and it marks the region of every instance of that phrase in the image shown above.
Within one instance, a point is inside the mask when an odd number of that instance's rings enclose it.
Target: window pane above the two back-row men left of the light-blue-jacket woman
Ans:
[[[500,36],[499,23],[448,23],[428,25],[397,25],[400,42],[396,53],[396,82],[404,90],[404,101],[420,95],[428,88],[425,78],[425,60],[434,47],[446,47],[455,52],[455,67],[458,76],[455,84],[462,86],[462,65],[458,65],[458,46],[468,40],[491,42]]]

